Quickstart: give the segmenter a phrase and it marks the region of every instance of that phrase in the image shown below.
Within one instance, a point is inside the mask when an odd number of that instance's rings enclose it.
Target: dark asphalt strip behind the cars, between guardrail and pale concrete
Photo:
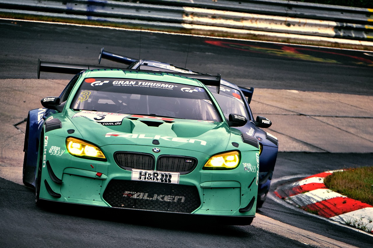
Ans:
[[[1,20],[0,20],[1,21]],[[97,64],[102,47],[222,74],[237,85],[373,95],[373,53],[152,32],[1,21],[0,78],[35,78],[37,58]],[[141,41],[141,42],[140,42]],[[104,61],[103,66],[120,66]],[[70,79],[44,74],[41,78]]]

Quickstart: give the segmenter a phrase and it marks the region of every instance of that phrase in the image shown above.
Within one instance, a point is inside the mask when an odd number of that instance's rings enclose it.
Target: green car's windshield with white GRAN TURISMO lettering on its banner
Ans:
[[[153,80],[86,78],[70,108],[221,121],[204,88]]]

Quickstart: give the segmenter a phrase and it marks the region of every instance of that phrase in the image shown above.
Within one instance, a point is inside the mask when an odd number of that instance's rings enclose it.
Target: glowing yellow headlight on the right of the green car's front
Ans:
[[[226,152],[212,156],[203,169],[234,169],[239,165],[239,152]]]

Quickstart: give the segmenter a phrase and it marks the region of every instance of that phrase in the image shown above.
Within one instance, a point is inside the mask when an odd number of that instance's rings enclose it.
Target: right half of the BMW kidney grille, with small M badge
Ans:
[[[197,159],[184,156],[160,156],[157,160],[157,171],[180,172],[187,174],[197,165]]]

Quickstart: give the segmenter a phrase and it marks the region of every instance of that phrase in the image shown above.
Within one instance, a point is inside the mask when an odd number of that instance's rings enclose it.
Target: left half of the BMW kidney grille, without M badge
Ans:
[[[154,170],[154,156],[148,153],[116,152],[114,158],[122,169]]]

